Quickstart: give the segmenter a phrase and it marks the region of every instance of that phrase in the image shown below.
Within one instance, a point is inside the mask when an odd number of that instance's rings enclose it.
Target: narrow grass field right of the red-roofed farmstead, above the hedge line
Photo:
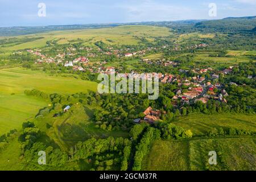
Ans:
[[[256,115],[246,114],[191,114],[186,117],[179,117],[175,125],[191,129],[193,135],[207,133],[213,127],[237,127],[256,131]]]

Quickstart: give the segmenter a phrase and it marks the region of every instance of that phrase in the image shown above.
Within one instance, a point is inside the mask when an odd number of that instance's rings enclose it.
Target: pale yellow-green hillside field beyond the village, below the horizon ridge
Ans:
[[[82,41],[85,46],[94,46],[94,43],[98,41],[109,45],[137,45],[141,43],[139,38],[146,38],[148,42],[154,42],[154,38],[168,35],[170,35],[168,28],[155,26],[118,26],[114,28],[54,31],[42,34],[16,36],[16,38],[19,39],[39,37],[43,37],[43,39],[21,43],[15,46],[10,44],[1,49],[5,51],[15,51],[25,48],[44,47],[47,41],[52,40],[57,40],[58,44],[67,44],[70,41]]]

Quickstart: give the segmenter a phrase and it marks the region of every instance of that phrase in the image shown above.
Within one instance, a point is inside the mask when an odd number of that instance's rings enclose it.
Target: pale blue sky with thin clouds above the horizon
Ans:
[[[38,7],[39,3],[44,3],[46,8]],[[212,12],[214,7],[209,7],[210,3],[216,5],[216,14],[211,16],[209,11]],[[42,16],[44,12],[45,16]],[[256,15],[256,0],[0,0],[0,27],[221,19],[253,15]]]

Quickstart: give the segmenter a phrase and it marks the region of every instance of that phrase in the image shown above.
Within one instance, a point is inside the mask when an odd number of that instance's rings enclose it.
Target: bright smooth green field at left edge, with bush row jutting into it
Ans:
[[[96,82],[71,77],[49,76],[39,71],[23,68],[0,71],[0,134],[19,129],[21,123],[34,118],[39,109],[46,107],[46,101],[26,96],[24,90],[38,89],[48,94],[73,94],[95,91]]]

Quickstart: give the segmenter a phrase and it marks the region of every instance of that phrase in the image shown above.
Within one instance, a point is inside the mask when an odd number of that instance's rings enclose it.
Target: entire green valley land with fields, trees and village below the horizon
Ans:
[[[0,170],[256,170],[254,32],[192,22],[1,37]],[[97,92],[113,71],[158,98]]]

